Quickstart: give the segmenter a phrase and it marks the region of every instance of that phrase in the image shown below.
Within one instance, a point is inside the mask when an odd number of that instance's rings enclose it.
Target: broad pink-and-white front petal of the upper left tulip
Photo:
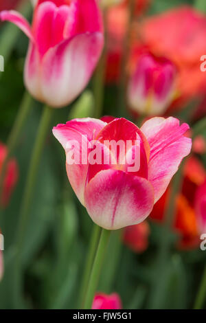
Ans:
[[[98,63],[103,43],[102,34],[87,33],[49,49],[41,65],[41,88],[47,104],[64,107],[82,92]]]

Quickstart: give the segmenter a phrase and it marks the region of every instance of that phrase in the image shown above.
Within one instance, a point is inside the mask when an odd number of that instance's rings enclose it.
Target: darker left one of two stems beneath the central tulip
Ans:
[[[91,268],[93,265],[93,260],[95,258],[95,252],[98,247],[98,242],[100,240],[100,230],[101,230],[101,228],[99,227],[99,225],[96,225],[95,223],[93,223],[93,232],[91,234],[91,240],[90,240],[90,244],[89,244],[89,252],[87,254],[86,266],[84,268],[82,283],[80,285],[80,298],[79,298],[80,308],[84,307],[84,299],[85,299],[85,295],[87,292],[89,277],[91,274]]]

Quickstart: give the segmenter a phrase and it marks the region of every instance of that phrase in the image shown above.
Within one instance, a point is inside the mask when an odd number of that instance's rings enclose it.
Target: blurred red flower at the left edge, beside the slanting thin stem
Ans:
[[[6,154],[6,146],[0,143],[0,172]],[[3,195],[1,197],[1,205],[3,205],[4,207],[8,205],[8,202],[10,201],[10,196],[12,194],[12,191],[14,190],[14,187],[16,186],[16,181],[18,179],[18,172],[19,170],[16,164],[16,160],[11,159],[8,162],[5,179],[3,182]]]

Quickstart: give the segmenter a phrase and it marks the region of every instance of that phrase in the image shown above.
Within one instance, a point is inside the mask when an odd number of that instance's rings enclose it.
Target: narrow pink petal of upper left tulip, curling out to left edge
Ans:
[[[10,21],[11,23],[14,23],[17,27],[19,27],[28,38],[30,38],[31,41],[34,41],[34,38],[32,36],[32,30],[30,27],[30,24],[27,22],[25,18],[19,12],[16,12],[14,10],[4,10],[0,12],[0,20],[1,21]]]

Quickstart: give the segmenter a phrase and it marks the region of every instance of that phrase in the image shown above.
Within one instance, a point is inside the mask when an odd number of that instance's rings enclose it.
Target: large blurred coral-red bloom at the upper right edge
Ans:
[[[172,107],[183,107],[188,100],[205,94],[206,73],[201,56],[206,52],[206,16],[190,6],[182,6],[152,16],[139,30],[141,43],[155,56],[165,56],[178,67],[179,96]],[[138,50],[137,50],[138,54]]]

